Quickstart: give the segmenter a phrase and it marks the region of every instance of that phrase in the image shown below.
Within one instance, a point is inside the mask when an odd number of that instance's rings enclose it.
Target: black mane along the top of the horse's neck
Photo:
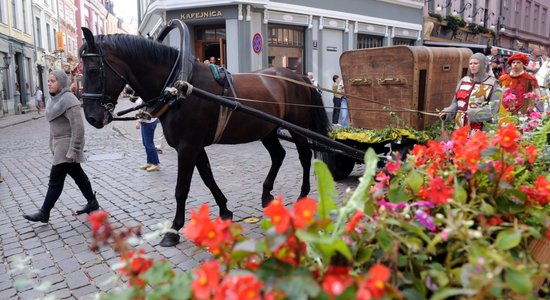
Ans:
[[[94,38],[96,45],[107,44],[109,48],[131,60],[152,60],[164,64],[173,63],[178,56],[178,50],[137,35],[109,34],[96,35]],[[78,52],[82,54],[86,48],[87,44],[84,43]]]

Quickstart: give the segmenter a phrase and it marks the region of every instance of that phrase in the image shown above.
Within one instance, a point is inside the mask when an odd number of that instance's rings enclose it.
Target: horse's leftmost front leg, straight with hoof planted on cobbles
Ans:
[[[204,149],[202,149],[204,150]],[[164,235],[160,241],[162,247],[172,247],[179,243],[180,236],[179,230],[185,223],[185,202],[189,195],[189,189],[191,187],[191,178],[193,177],[193,170],[195,169],[195,163],[197,157],[201,151],[198,147],[179,148],[178,151],[178,178],[176,183],[176,215],[172,221],[172,229],[177,231],[176,233],[168,232]]]

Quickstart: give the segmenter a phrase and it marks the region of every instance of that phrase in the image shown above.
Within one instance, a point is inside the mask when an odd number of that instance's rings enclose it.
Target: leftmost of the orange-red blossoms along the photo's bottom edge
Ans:
[[[209,299],[210,295],[220,283],[220,265],[217,260],[204,262],[195,269],[195,280],[191,283],[191,290],[197,299]]]

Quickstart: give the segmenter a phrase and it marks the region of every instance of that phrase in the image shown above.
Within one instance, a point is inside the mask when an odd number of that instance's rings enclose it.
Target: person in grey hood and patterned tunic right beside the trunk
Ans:
[[[439,117],[453,120],[455,128],[469,125],[483,130],[483,122],[491,122],[498,111],[500,84],[493,76],[487,58],[482,53],[470,56],[468,74],[458,82],[451,105]]]

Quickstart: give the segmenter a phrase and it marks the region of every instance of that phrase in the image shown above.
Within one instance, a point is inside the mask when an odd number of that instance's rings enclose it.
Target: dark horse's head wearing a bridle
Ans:
[[[96,43],[92,32],[82,27],[86,44],[80,50],[83,65],[84,91],[82,101],[86,120],[96,128],[102,128],[113,120],[112,113],[117,99],[127,83],[120,71],[110,62],[113,56]]]

